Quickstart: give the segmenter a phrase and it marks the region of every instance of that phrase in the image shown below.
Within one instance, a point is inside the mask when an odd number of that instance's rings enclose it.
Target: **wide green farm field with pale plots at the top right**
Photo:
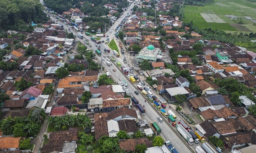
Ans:
[[[256,32],[256,2],[247,0],[214,0],[211,5],[184,7],[184,21],[199,28],[219,29],[225,32]],[[245,24],[238,24],[232,18],[242,18]]]

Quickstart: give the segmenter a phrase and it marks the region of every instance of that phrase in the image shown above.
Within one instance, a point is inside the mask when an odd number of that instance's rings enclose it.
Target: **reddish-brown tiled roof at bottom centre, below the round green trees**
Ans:
[[[152,147],[152,143],[147,137],[119,141],[120,149],[124,149],[127,152],[135,151],[136,150],[135,146],[142,145],[142,144],[145,144],[147,148]]]

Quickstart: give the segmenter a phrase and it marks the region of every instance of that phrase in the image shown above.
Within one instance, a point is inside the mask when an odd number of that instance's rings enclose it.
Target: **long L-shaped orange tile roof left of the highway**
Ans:
[[[70,84],[71,82],[92,82],[97,81],[98,76],[76,76],[66,77],[60,80],[58,88],[82,87],[82,84]]]

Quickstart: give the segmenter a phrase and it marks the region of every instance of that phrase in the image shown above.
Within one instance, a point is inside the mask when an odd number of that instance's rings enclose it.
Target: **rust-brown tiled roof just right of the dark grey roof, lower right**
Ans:
[[[211,124],[214,126],[214,128],[220,133],[220,134],[228,134],[228,133],[234,133],[236,132],[234,130],[234,126],[230,121],[219,121],[219,122],[211,122]]]

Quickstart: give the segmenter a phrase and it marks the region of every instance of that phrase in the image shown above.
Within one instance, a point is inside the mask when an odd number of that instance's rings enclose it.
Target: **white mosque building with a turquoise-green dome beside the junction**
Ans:
[[[142,62],[143,60],[147,60],[151,63],[156,62],[157,59],[161,59],[161,50],[159,48],[155,48],[153,45],[149,45],[148,47],[144,47],[138,54],[137,62]]]

